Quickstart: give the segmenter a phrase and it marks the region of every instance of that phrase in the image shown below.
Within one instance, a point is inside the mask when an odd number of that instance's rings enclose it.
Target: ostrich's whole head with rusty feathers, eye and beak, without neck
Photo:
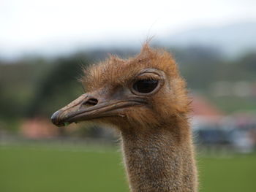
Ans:
[[[150,128],[189,111],[186,83],[165,50],[145,44],[135,58],[110,56],[84,71],[87,93],[53,114],[56,126],[94,120],[119,128]]]

